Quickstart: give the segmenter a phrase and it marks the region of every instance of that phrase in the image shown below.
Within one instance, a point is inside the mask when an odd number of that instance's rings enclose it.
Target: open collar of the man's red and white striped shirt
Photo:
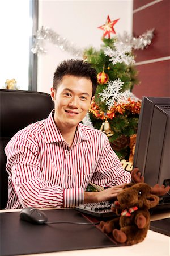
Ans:
[[[45,143],[53,143],[53,142],[64,142],[60,131],[58,130],[56,123],[54,122],[54,109],[49,114],[48,118],[45,120],[44,124],[44,139]],[[82,127],[78,124],[76,129],[73,145],[78,144],[82,141],[88,141],[87,135],[82,129]]]

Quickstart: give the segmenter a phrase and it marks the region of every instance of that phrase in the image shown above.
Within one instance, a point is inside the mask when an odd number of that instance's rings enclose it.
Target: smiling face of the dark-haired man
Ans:
[[[63,76],[57,90],[52,88],[54,121],[59,129],[75,127],[85,117],[92,99],[92,82],[86,77]]]

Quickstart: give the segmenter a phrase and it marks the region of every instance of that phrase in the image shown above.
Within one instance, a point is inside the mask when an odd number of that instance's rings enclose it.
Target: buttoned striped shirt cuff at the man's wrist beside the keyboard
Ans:
[[[84,202],[83,188],[68,188],[63,190],[63,207],[74,207]]]

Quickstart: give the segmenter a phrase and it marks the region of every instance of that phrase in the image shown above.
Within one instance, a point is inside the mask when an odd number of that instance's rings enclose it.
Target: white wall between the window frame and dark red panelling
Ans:
[[[97,27],[105,24],[107,15],[111,20],[120,18],[114,26],[117,34],[122,35],[124,31],[131,34],[132,11],[133,0],[39,0],[39,28],[49,27],[77,47],[99,49],[103,30]],[[59,62],[75,56],[62,52],[49,42],[44,46],[46,55],[38,57],[37,90],[50,93],[53,73]]]

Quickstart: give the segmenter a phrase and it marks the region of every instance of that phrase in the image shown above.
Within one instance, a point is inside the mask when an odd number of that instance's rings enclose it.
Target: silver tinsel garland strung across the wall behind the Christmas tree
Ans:
[[[130,36],[127,32],[124,32],[123,36],[118,35],[117,40],[120,44],[130,45],[134,49],[144,49],[146,46],[151,44],[151,40],[154,37],[154,29],[147,30],[144,34],[135,38],[134,36]],[[67,38],[57,34],[52,29],[46,27],[41,27],[40,30],[37,31],[34,43],[31,51],[34,54],[42,54],[46,53],[46,49],[44,48],[44,42],[49,41],[54,44],[54,46],[59,47],[62,51],[66,51],[71,53],[71,55],[76,57],[83,57],[84,49],[80,49],[75,46],[74,42],[69,42]]]

